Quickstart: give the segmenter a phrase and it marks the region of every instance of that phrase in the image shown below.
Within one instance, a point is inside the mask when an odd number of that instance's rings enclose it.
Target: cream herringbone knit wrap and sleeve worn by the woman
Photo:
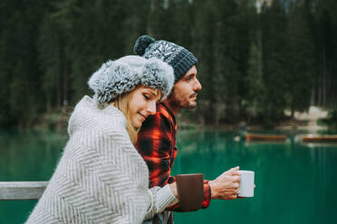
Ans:
[[[116,107],[85,96],[69,121],[70,139],[26,223],[141,223],[176,198],[149,189],[149,171]]]

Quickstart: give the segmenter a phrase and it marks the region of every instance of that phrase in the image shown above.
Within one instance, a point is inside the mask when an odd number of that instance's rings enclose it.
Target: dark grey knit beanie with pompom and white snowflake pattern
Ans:
[[[197,64],[197,58],[185,48],[173,42],[156,41],[148,35],[138,38],[133,51],[146,59],[158,58],[167,62],[173,67],[175,82]]]

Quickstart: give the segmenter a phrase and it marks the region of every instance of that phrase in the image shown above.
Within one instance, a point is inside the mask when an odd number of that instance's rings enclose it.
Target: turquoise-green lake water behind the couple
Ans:
[[[255,197],[212,201],[207,210],[175,214],[175,223],[337,223],[337,145],[234,141],[234,133],[178,135],[173,173],[204,173],[231,167],[255,171]],[[66,135],[0,132],[0,181],[46,181]],[[23,223],[36,201],[0,201],[0,223]]]

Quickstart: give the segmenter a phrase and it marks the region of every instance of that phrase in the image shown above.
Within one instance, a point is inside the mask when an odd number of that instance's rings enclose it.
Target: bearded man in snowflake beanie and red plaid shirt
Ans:
[[[170,171],[177,156],[176,116],[180,108],[197,107],[197,92],[201,84],[197,80],[197,58],[185,48],[166,41],[156,41],[147,35],[140,36],[134,46],[134,52],[140,56],[158,58],[173,67],[175,84],[162,103],[157,105],[157,112],[149,116],[141,126],[136,148],[149,167],[149,186],[163,187],[175,182]],[[238,167],[222,173],[214,181],[204,181],[204,201],[206,209],[211,199],[232,200],[237,198],[240,182]],[[181,211],[179,204],[167,210]],[[159,215],[149,223],[168,223],[169,212]],[[171,216],[172,217],[172,216]]]

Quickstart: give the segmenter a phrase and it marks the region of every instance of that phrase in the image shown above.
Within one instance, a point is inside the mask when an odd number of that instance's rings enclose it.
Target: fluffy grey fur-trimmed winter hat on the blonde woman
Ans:
[[[120,94],[132,91],[139,84],[159,89],[163,100],[167,98],[173,82],[173,70],[167,63],[130,55],[103,63],[101,68],[91,75],[88,85],[95,93],[93,98],[104,105]]]

